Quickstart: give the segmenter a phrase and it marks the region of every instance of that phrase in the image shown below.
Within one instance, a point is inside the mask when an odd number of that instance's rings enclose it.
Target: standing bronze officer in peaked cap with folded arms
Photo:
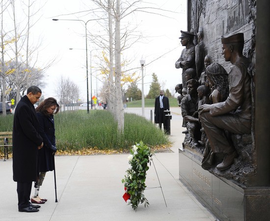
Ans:
[[[176,68],[182,68],[182,83],[187,88],[187,81],[185,79],[185,72],[188,68],[196,68],[195,65],[195,45],[193,44],[194,34],[189,31],[181,30],[181,44],[186,48],[183,49],[181,56],[175,62]]]

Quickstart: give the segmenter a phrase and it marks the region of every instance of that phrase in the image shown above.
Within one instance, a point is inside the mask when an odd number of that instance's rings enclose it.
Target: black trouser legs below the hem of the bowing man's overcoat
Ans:
[[[17,182],[18,209],[24,209],[30,206],[32,182]]]

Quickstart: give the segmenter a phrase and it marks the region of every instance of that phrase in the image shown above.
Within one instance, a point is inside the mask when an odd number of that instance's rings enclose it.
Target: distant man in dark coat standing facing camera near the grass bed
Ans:
[[[155,123],[159,124],[160,129],[162,128],[165,130],[164,123],[165,123],[165,111],[170,110],[169,99],[163,95],[163,90],[160,90],[160,96],[156,98],[155,101]]]

